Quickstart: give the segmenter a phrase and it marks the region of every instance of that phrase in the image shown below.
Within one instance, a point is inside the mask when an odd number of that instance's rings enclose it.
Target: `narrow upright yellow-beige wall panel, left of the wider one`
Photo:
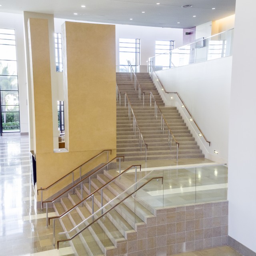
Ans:
[[[34,98],[35,153],[53,151],[52,88],[48,20],[30,18],[29,24],[31,82]]]

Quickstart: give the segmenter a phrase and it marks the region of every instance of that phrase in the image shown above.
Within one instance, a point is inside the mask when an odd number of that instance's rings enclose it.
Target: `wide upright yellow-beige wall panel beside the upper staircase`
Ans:
[[[115,26],[65,22],[62,29],[68,150],[116,149]]]

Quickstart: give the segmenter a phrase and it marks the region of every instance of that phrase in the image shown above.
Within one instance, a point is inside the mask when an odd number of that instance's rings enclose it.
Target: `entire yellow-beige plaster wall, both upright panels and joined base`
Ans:
[[[101,45],[98,45],[99,49],[97,47],[90,49],[90,44],[86,45],[86,43],[83,46],[82,41],[79,42],[78,38],[86,40],[85,34],[83,34],[84,29],[74,28],[74,31],[71,32],[73,24],[70,25],[68,33],[64,32],[64,35],[67,35],[64,38],[68,42],[64,47],[64,49],[68,49],[67,54],[64,54],[64,56],[68,56],[66,65],[64,65],[64,75],[66,75],[64,84],[66,84],[65,107],[69,113],[68,116],[65,116],[65,126],[69,135],[66,136],[66,140],[71,146],[68,146],[69,152],[56,153],[53,150],[52,140],[52,84],[48,20],[29,19],[37,188],[49,186],[102,150],[112,149],[110,159],[116,156],[114,26],[107,26],[106,29],[105,25],[100,25],[99,28],[89,28],[88,24],[83,24],[86,26],[86,37],[92,39],[91,45],[95,47],[101,37],[101,44],[104,45],[103,51],[100,48]],[[91,25],[89,24],[89,26]],[[102,38],[103,31],[105,31],[105,37]],[[78,47],[79,44],[75,45],[75,42],[79,42],[80,47]],[[87,53],[81,54],[81,51]],[[109,54],[104,55],[104,52]],[[86,56],[87,61],[80,55]],[[93,68],[85,72],[84,62],[88,66],[92,63]],[[102,64],[96,62],[103,62],[106,68],[104,69]],[[95,74],[97,66],[100,73]],[[80,69],[76,70],[77,67]],[[71,127],[68,124],[72,124]],[[83,168],[82,174],[102,162],[106,162],[106,154],[103,154],[97,161],[87,164]],[[78,173],[79,170],[75,179]],[[70,179],[44,192],[43,199],[66,186],[68,182]],[[38,200],[40,200],[40,196]]]

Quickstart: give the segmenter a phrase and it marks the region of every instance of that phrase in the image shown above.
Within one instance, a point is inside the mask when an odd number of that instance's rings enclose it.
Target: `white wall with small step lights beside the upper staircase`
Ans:
[[[204,148],[208,150],[205,152],[200,145],[206,157],[225,163],[228,161],[231,66],[232,57],[226,57],[157,72],[166,91],[180,94],[211,142],[211,146],[208,146],[202,137],[198,137],[199,131],[195,128],[195,138],[203,141]],[[170,104],[170,96],[174,94],[164,96]],[[190,122],[187,124],[190,125]],[[218,155],[214,154],[214,150],[218,151]]]

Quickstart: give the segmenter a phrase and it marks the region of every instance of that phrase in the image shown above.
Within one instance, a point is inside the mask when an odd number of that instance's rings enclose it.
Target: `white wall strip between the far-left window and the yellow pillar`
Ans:
[[[15,29],[20,100],[20,132],[28,132],[28,102],[24,53],[23,15],[1,12],[0,28]]]

